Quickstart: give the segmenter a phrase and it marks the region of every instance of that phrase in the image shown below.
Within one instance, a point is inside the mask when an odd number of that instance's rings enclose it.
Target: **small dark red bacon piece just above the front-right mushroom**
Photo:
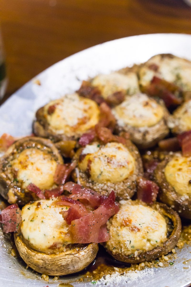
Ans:
[[[159,187],[153,181],[147,180],[144,177],[138,177],[137,179],[137,198],[152,204],[159,191]]]

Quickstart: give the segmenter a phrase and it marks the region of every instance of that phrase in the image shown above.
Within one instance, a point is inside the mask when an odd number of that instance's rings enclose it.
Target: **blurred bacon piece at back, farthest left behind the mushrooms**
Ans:
[[[76,92],[82,97],[94,100],[97,104],[101,104],[105,101],[99,88],[92,86],[88,81],[83,81],[81,87]]]

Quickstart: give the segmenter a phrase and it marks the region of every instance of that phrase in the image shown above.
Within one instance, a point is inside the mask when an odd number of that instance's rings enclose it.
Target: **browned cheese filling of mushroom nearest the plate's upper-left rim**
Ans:
[[[48,109],[51,106],[54,106],[55,110],[49,115]],[[82,134],[94,127],[99,121],[99,114],[96,102],[76,93],[51,101],[44,107],[44,116],[52,131],[66,136]]]

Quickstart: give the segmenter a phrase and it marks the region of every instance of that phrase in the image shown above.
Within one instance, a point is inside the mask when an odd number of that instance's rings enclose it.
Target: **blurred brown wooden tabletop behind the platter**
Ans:
[[[1,0],[0,21],[8,97],[90,46],[138,34],[191,34],[191,7],[182,0]]]

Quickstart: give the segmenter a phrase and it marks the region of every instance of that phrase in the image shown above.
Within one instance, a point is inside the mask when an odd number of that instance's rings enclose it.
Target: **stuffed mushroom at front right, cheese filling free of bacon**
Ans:
[[[117,214],[110,218],[109,241],[103,243],[115,259],[137,263],[170,252],[181,234],[178,214],[165,204],[146,205],[142,201],[120,201]]]

